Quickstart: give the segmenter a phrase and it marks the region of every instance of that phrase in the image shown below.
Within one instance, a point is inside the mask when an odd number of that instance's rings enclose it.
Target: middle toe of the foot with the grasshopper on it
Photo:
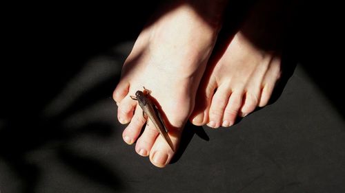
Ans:
[[[122,137],[127,144],[133,144],[140,135],[141,128],[144,126],[146,119],[142,115],[141,108],[135,109],[135,113],[130,121],[130,124],[125,128]]]

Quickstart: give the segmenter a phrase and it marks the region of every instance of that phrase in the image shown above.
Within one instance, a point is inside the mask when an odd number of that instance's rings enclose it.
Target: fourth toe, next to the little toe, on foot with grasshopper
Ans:
[[[135,106],[137,106],[137,102],[129,96],[121,100],[117,109],[117,119],[121,124],[128,124],[130,122]]]

